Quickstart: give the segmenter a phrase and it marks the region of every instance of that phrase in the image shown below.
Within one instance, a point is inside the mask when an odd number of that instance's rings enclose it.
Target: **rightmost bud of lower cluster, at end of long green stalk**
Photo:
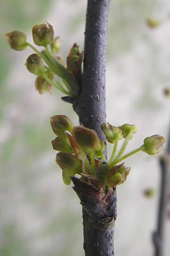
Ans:
[[[145,148],[142,151],[146,152],[148,155],[156,155],[162,150],[165,138],[156,134],[145,138],[143,142],[143,146],[145,146]]]

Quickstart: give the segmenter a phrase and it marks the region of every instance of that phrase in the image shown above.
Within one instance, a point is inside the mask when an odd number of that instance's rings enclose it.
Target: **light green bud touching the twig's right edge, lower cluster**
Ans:
[[[103,123],[101,125],[101,130],[103,130],[107,141],[110,143],[114,143],[116,139],[121,140],[124,138],[120,127],[110,125],[109,123]]]

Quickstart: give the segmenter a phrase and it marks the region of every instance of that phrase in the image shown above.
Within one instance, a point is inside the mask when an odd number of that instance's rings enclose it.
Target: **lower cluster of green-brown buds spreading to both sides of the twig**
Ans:
[[[93,182],[98,184],[103,191],[118,184],[124,183],[129,175],[130,167],[125,167],[124,159],[139,151],[148,155],[155,155],[162,150],[165,138],[161,135],[152,135],[144,139],[141,147],[124,154],[128,142],[136,133],[137,127],[125,123],[120,127],[103,123],[101,129],[107,141],[113,144],[112,154],[109,160],[105,159],[104,142],[101,141],[92,129],[83,126],[74,126],[73,122],[65,115],[54,115],[51,125],[56,139],[52,141],[54,150],[59,151],[56,162],[62,169],[62,177],[65,184],[71,183],[70,177],[80,175],[87,182],[93,177]],[[120,150],[117,150],[118,142],[122,142]],[[99,186],[100,184],[100,186]]]

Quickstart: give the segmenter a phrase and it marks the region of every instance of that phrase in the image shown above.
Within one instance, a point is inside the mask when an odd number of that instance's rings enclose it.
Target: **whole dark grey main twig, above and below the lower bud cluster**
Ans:
[[[94,129],[105,142],[105,57],[110,0],[88,0],[84,44],[82,88],[74,110],[85,127]],[[114,255],[116,190],[107,194],[72,178],[83,207],[84,251],[86,256]]]

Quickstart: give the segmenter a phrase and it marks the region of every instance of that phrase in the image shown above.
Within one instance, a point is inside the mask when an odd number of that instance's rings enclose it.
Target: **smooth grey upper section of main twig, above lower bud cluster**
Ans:
[[[80,123],[105,141],[105,58],[110,0],[88,0],[82,88],[76,106]]]

